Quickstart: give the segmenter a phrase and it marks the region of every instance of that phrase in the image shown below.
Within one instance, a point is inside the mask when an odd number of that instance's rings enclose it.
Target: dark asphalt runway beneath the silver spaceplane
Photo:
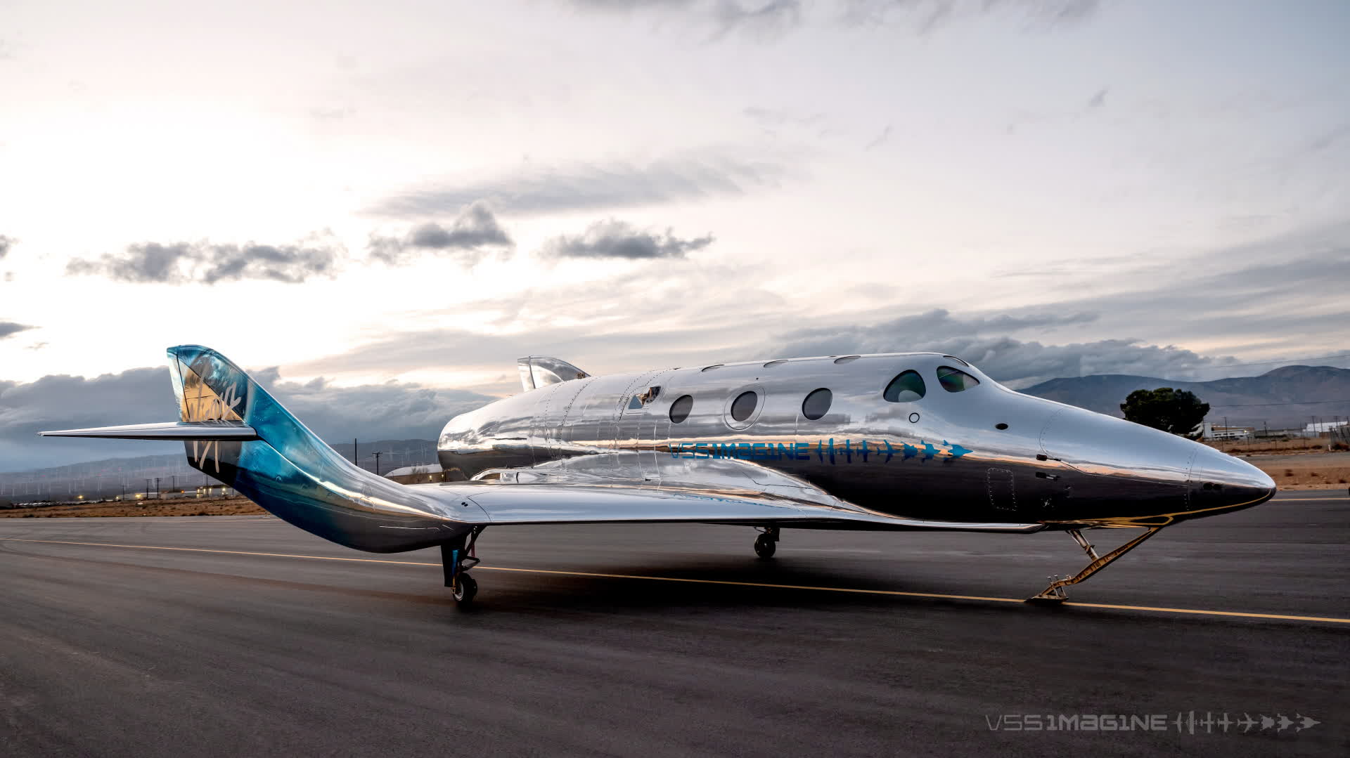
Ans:
[[[752,540],[494,527],[460,612],[435,550],[3,519],[0,755],[1350,751],[1345,491],[1169,527],[1058,608],[1017,600],[1085,562],[1064,534]]]

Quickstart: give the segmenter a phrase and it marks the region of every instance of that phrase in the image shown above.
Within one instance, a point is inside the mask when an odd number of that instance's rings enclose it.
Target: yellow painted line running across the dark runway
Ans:
[[[297,553],[255,553],[248,550],[213,550],[209,548],[165,548],[158,545],[116,545],[112,542],[72,542],[65,540],[19,540],[15,537],[0,537],[3,541],[8,542],[39,542],[45,545],[85,545],[94,548],[131,548],[138,550],[176,550],[182,553],[217,553],[224,556],[263,556],[270,558],[308,558],[312,561],[348,561],[358,564],[393,564],[405,566],[436,566],[440,568],[439,562],[425,562],[425,561],[387,561],[381,558],[340,558],[335,556],[302,556]],[[898,589],[856,589],[849,587],[814,587],[809,584],[771,584],[764,581],[729,581],[720,579],[684,579],[675,576],[641,576],[641,575],[626,575],[626,573],[597,573],[585,571],[558,571],[558,569],[525,569],[525,568],[506,568],[506,566],[483,566],[479,565],[474,571],[505,571],[517,573],[544,573],[555,576],[587,576],[595,579],[639,579],[647,581],[680,581],[687,584],[720,584],[726,587],[760,587],[768,589],[807,589],[814,592],[848,592],[855,595],[886,595],[886,596],[899,596],[899,597],[929,597],[938,600],[976,600],[984,603],[1025,603],[1025,597],[986,597],[981,595],[942,595],[938,592],[902,592]],[[1228,616],[1228,618],[1243,618],[1243,619],[1274,619],[1274,620],[1293,620],[1293,622],[1326,622],[1326,623],[1347,623],[1350,619],[1336,619],[1328,616],[1291,616],[1281,614],[1247,614],[1242,611],[1208,611],[1200,608],[1161,608],[1154,606],[1112,606],[1107,603],[1072,603],[1065,602],[1062,606],[1075,606],[1080,608],[1107,608],[1115,611],[1148,611],[1158,614],[1189,614],[1202,616]]]

